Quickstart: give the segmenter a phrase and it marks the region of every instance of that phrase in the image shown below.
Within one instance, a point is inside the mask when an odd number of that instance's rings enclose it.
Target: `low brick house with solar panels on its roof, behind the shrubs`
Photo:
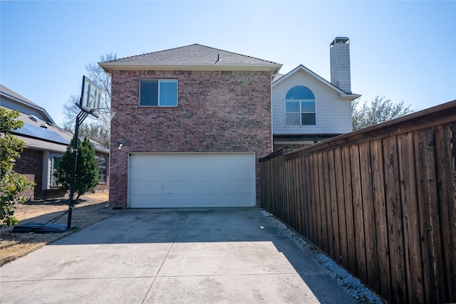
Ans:
[[[46,110],[36,103],[0,85],[0,106],[11,110],[19,110],[19,120],[24,126],[12,132],[23,140],[27,148],[21,152],[21,158],[16,160],[14,170],[36,183],[35,189],[24,193],[27,199],[46,199],[63,196],[53,177],[62,154],[73,138],[71,132],[55,125]],[[109,150],[96,142],[95,157],[98,160],[100,184],[95,191],[108,189]]]

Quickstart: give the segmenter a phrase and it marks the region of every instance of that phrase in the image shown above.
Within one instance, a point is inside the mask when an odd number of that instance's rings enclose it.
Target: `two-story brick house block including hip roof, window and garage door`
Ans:
[[[281,64],[199,44],[99,64],[116,111],[110,206],[259,204]]]

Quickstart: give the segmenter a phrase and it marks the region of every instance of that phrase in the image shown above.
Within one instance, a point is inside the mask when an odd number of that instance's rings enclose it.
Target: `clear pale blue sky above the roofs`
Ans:
[[[63,122],[85,66],[199,43],[330,80],[351,41],[351,87],[415,110],[456,99],[456,1],[0,1],[0,82]]]

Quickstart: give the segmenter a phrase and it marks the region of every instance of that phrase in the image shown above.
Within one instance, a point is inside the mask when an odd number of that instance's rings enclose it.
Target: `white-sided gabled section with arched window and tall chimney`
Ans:
[[[277,75],[272,90],[274,150],[296,149],[352,131],[349,39],[337,37],[330,46],[331,83],[299,65]]]

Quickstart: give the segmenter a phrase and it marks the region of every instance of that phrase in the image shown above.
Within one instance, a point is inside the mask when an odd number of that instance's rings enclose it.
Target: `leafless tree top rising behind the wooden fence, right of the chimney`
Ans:
[[[405,107],[403,101],[393,103],[393,101],[385,99],[385,97],[377,96],[370,104],[368,104],[367,100],[364,100],[363,107],[358,109],[359,101],[360,99],[358,98],[351,103],[353,131],[377,125],[380,122],[392,120],[414,111],[410,109],[410,105]]]

